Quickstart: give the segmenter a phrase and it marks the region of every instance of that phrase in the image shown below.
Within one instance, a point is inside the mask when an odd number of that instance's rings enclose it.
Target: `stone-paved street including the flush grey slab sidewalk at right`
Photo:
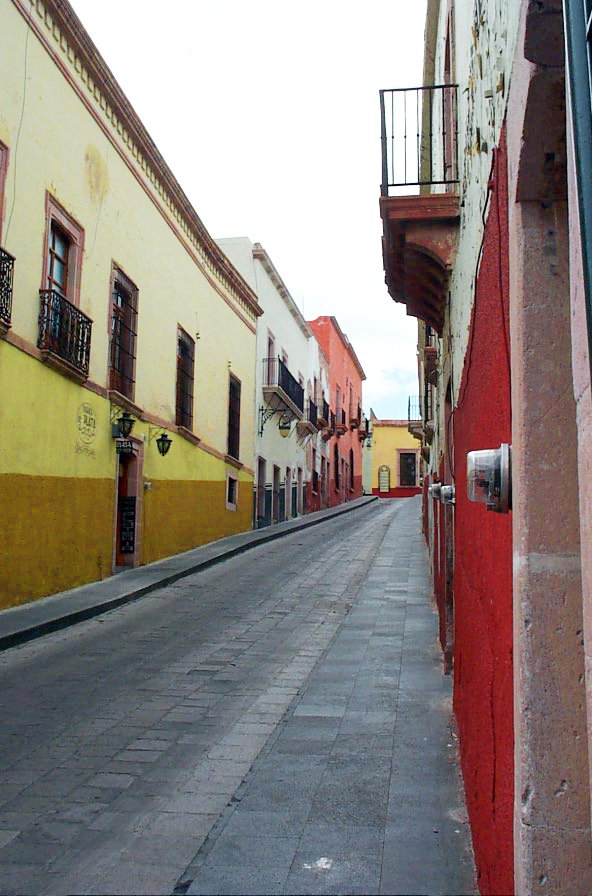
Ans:
[[[419,508],[0,655],[0,892],[476,892]]]

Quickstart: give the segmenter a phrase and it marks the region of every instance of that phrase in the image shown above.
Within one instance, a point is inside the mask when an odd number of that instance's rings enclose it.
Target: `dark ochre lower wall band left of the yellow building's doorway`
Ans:
[[[0,475],[0,609],[111,574],[111,479]]]

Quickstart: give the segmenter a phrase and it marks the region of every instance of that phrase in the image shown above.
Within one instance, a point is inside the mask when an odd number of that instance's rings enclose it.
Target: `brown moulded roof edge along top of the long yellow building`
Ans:
[[[29,25],[34,26],[35,32],[42,37],[42,43],[46,43],[47,38],[39,23],[31,18],[30,8],[28,6],[25,8],[23,0],[12,2]],[[159,186],[164,189],[185,226],[193,234],[210,270],[226,283],[229,291],[236,295],[238,302],[242,303],[253,317],[261,316],[263,309],[259,306],[257,296],[207,231],[68,0],[42,0],[41,3],[34,4],[33,12],[37,13],[39,19],[49,29],[54,45],[57,45],[62,52],[65,50],[70,63],[74,61],[75,71],[82,82],[81,86],[89,90],[95,105],[99,104],[100,110],[118,131],[130,155],[137,159],[141,168],[144,168],[147,179],[157,192]],[[64,44],[68,46],[64,47]],[[102,97],[97,98],[96,89]],[[145,166],[142,165],[142,161]],[[152,169],[153,177],[146,171],[146,167]]]

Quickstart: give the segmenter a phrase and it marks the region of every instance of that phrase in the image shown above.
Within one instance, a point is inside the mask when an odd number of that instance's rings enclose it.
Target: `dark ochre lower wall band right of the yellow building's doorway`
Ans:
[[[252,479],[238,488],[237,509],[227,510],[226,482],[153,479],[142,502],[142,563],[251,529]]]

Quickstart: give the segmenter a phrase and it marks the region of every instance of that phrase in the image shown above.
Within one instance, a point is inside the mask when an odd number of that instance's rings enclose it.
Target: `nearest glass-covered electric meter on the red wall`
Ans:
[[[512,509],[512,446],[467,454],[467,497],[495,513]]]

